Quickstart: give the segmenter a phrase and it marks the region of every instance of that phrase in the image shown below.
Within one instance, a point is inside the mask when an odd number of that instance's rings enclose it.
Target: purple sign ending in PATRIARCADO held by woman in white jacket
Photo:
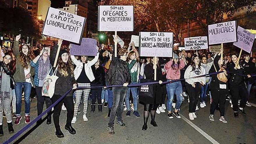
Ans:
[[[75,56],[97,56],[97,40],[83,38],[80,45],[71,44],[70,55]]]

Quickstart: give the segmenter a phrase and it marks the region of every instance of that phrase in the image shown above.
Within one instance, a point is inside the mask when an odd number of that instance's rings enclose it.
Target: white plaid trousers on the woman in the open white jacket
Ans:
[[[90,83],[78,83],[78,86],[84,87],[88,86],[90,87]],[[75,91],[75,104],[74,104],[74,117],[77,117],[78,114],[78,108],[81,102],[81,99],[83,98],[83,114],[87,114],[87,108],[88,108],[88,97],[90,94],[90,89],[82,89],[82,90],[76,90]]]

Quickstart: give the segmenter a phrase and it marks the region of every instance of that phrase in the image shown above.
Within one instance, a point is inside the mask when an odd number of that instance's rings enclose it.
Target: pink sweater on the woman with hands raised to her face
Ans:
[[[179,61],[180,61],[179,68],[176,68],[175,70],[173,70],[172,68],[173,60],[170,60],[168,63],[164,65],[164,69],[166,71],[166,79],[170,79],[170,80],[180,79],[180,70],[185,67],[185,63],[183,60],[179,60]]]

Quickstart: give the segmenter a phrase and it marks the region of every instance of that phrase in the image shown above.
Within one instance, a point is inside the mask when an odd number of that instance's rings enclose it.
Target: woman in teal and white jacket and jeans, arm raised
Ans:
[[[127,63],[128,68],[131,74],[131,83],[130,84],[136,84],[139,80],[139,73],[140,73],[140,63],[138,62],[136,52],[130,51],[127,56]],[[137,87],[131,87],[127,88],[126,96],[125,96],[125,105],[127,107],[127,113],[126,116],[131,116],[131,110],[130,110],[130,91],[133,98],[133,115],[135,115],[137,118],[141,117],[140,114],[137,111],[138,106],[138,89]]]

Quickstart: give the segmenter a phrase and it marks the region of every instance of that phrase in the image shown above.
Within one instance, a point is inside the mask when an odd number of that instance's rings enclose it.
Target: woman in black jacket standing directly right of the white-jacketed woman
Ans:
[[[101,66],[100,60],[95,63],[95,65],[92,66],[93,75],[95,77],[94,81],[91,82],[91,86],[104,86],[105,85],[105,72],[103,67]],[[98,110],[99,112],[102,112],[102,101],[101,101],[101,92],[102,88],[91,88],[92,93],[92,110],[91,112],[94,113],[95,111],[95,102],[96,97],[98,101]]]

